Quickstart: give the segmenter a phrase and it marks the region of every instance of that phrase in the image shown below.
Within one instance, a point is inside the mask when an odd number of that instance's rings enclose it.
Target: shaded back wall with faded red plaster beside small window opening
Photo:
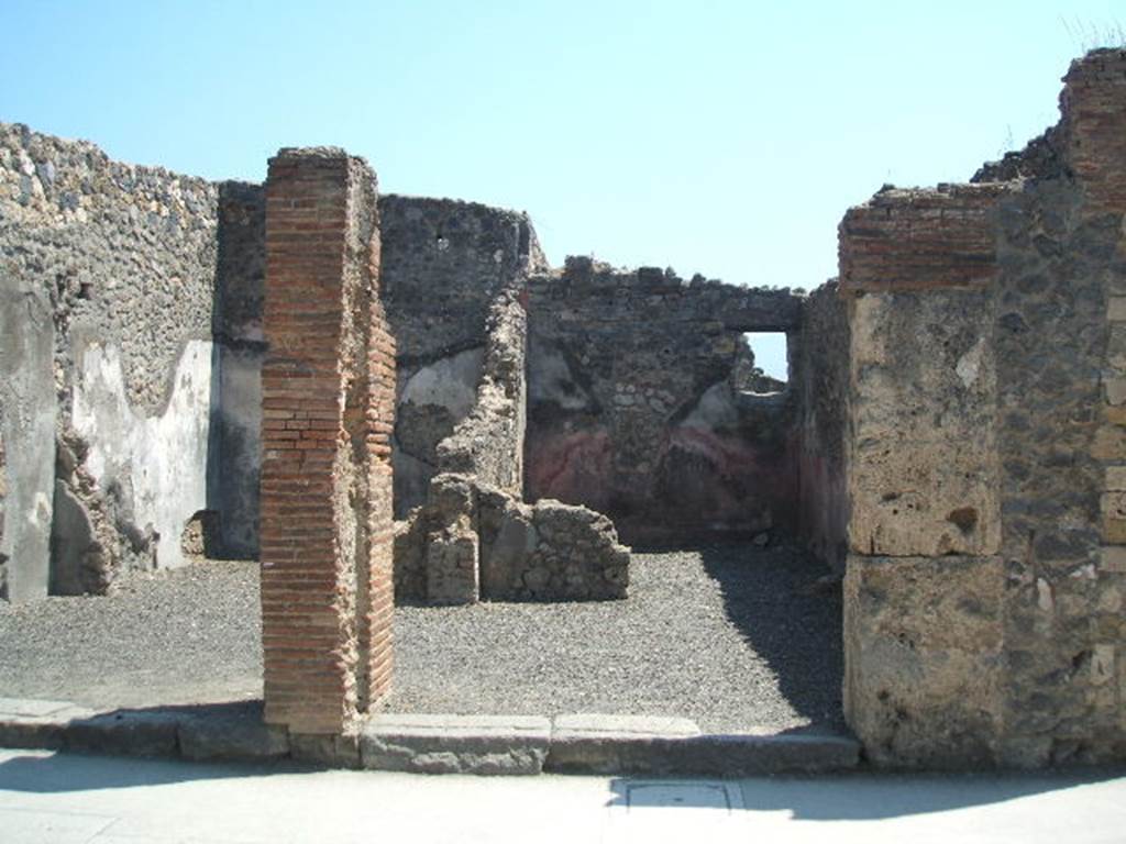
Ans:
[[[789,394],[744,402],[747,331],[795,331],[801,297],[569,258],[529,287],[526,494],[586,504],[629,541],[793,522]]]

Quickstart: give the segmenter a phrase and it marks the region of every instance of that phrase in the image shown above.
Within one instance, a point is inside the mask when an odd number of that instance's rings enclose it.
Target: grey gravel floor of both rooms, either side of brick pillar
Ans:
[[[785,547],[635,554],[631,598],[402,607],[401,712],[687,716],[709,731],[841,724],[840,596]],[[0,602],[0,697],[97,707],[261,695],[258,569],[206,562],[108,598]]]

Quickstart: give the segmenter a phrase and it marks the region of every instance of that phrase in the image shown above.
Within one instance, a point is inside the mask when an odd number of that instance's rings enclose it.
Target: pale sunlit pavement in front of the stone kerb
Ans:
[[[1126,775],[468,778],[0,751],[5,844],[1126,841]]]

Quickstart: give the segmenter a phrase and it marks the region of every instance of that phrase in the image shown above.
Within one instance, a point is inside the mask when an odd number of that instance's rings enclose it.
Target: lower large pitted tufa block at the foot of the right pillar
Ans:
[[[995,761],[1003,589],[998,557],[849,557],[844,715],[869,761]]]

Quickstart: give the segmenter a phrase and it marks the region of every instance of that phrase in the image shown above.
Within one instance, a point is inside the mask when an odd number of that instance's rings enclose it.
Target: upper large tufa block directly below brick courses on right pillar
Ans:
[[[851,549],[892,556],[997,553],[989,295],[869,293],[850,309]]]

